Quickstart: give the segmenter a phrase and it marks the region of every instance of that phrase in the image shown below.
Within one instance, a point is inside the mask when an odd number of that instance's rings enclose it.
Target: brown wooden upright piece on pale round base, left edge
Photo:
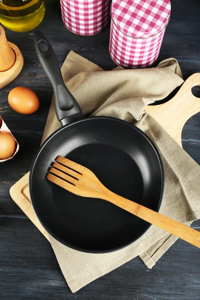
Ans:
[[[5,31],[0,25],[0,72],[8,70],[15,62],[15,53],[10,47]]]

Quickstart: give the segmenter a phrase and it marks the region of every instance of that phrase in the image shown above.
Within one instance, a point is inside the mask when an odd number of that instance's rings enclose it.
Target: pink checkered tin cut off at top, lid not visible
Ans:
[[[64,25],[79,35],[102,31],[110,20],[111,0],[60,0]]]

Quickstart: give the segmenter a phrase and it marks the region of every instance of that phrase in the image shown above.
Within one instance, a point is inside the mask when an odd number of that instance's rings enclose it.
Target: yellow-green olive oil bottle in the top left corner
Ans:
[[[34,29],[44,12],[44,0],[0,0],[0,23],[13,31]]]

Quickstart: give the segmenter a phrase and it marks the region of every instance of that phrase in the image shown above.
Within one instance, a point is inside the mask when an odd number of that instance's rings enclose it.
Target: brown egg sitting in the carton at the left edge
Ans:
[[[14,154],[16,142],[14,137],[5,131],[0,131],[0,159],[9,158]]]

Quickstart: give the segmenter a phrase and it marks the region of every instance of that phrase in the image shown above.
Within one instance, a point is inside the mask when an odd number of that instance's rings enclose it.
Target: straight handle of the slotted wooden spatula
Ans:
[[[103,194],[101,198],[200,248],[199,231],[192,229],[182,223],[179,223],[145,206],[123,198],[111,191]]]

